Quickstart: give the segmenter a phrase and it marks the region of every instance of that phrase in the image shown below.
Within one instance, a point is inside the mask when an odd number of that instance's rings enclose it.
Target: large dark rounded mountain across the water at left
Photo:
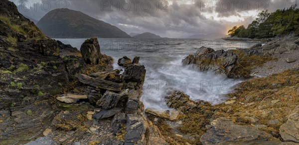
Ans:
[[[36,25],[51,38],[131,38],[116,26],[68,8],[49,11]]]

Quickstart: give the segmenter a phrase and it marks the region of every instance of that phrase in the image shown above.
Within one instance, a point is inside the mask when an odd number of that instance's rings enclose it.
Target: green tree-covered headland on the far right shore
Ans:
[[[272,13],[263,10],[247,28],[243,25],[234,26],[228,31],[229,36],[242,38],[268,38],[289,33],[299,35],[299,7],[297,2],[287,9],[278,9]]]

